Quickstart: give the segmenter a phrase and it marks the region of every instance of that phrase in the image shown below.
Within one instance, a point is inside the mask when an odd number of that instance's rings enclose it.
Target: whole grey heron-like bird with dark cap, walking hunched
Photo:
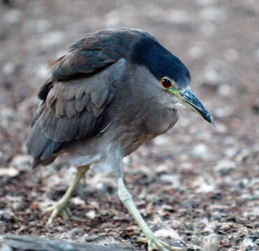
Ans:
[[[117,178],[119,199],[145,234],[149,251],[181,250],[156,238],[147,226],[124,184],[122,160],[175,126],[182,109],[215,126],[191,91],[188,68],[154,35],[131,28],[89,33],[49,68],[27,151],[33,167],[58,157],[77,167],[77,174],[57,204],[46,208],[51,213],[47,225],[58,215],[78,220],[67,205],[91,167]]]

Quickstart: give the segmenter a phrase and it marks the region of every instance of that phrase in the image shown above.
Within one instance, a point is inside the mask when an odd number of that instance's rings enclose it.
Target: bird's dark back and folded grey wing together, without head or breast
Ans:
[[[98,134],[100,124],[110,123],[102,120],[115,94],[116,62],[127,58],[136,37],[140,31],[128,29],[92,33],[52,63],[52,75],[38,94],[43,102],[27,139],[28,153],[38,162],[67,142]]]

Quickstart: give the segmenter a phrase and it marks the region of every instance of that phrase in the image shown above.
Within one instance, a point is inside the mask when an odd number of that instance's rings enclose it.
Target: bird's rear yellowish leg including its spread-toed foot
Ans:
[[[50,206],[43,211],[43,213],[51,213],[49,220],[47,221],[47,225],[50,225],[54,218],[57,217],[57,215],[61,215],[64,220],[78,220],[82,221],[80,218],[76,218],[72,215],[71,211],[67,208],[68,201],[72,197],[73,192],[75,191],[75,188],[77,187],[77,184],[79,183],[80,179],[84,174],[88,171],[89,165],[77,167],[77,174],[75,178],[73,179],[73,182],[69,186],[68,190],[66,190],[66,193],[63,195],[63,197],[55,204],[54,206]]]

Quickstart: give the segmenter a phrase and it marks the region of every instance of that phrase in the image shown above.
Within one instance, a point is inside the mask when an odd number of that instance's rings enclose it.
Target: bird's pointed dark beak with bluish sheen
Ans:
[[[179,95],[182,97],[185,105],[187,105],[188,108],[190,108],[193,112],[202,116],[203,119],[207,120],[209,123],[212,123],[212,125],[215,126],[212,116],[202,105],[202,102],[200,102],[200,100],[198,100],[198,98],[191,92],[190,89],[187,89],[182,93],[179,93]]]

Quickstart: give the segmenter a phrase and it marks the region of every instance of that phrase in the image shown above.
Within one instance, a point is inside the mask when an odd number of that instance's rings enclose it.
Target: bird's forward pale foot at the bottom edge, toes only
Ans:
[[[181,248],[181,247],[168,245],[168,243],[165,243],[165,242],[159,240],[158,238],[156,238],[156,236],[154,236],[154,234],[147,235],[147,238],[138,238],[138,241],[142,242],[142,243],[147,243],[148,251],[152,251],[152,250],[182,251],[182,250],[184,250],[184,248]]]

